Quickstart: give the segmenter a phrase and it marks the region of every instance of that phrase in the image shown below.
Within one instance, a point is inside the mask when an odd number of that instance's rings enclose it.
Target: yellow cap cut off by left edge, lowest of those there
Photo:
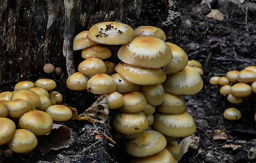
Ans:
[[[14,137],[16,125],[11,119],[0,117],[0,131],[0,145],[5,145]]]

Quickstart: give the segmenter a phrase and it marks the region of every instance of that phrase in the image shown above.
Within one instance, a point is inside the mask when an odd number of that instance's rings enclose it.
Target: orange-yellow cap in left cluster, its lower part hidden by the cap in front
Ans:
[[[31,90],[17,90],[12,94],[11,100],[24,99],[31,105],[31,109],[39,108],[41,101],[39,96]]]

